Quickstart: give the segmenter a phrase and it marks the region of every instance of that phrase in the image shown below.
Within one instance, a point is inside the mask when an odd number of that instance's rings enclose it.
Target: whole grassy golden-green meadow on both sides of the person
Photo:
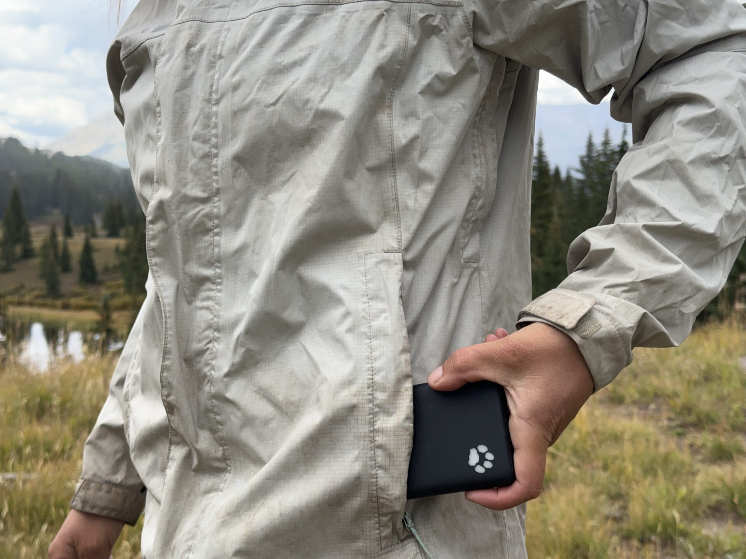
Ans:
[[[635,350],[550,452],[530,558],[746,558],[746,329]],[[116,356],[28,373],[0,364],[0,559],[43,558],[67,512]],[[142,522],[142,521],[141,521]],[[137,558],[125,527],[115,559]]]

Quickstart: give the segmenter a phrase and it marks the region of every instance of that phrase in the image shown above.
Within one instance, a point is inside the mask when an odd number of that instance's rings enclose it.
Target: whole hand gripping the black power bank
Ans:
[[[439,391],[453,391],[480,380],[505,388],[515,482],[467,491],[465,496],[502,511],[539,496],[548,448],[593,394],[593,377],[570,336],[534,322],[510,335],[498,328],[483,344],[454,351],[430,373],[427,383]]]

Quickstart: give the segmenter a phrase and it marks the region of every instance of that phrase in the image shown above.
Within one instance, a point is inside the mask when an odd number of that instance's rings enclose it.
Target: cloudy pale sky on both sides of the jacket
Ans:
[[[43,148],[112,110],[104,60],[116,30],[109,0],[0,0],[0,137]],[[540,104],[584,102],[542,72]]]

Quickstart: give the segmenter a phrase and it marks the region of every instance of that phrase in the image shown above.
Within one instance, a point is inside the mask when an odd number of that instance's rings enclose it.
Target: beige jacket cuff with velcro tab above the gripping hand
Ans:
[[[593,294],[557,288],[536,297],[518,312],[516,329],[531,322],[551,324],[577,344],[599,391],[632,362],[632,351],[622,342],[618,324],[608,312],[601,312]]]

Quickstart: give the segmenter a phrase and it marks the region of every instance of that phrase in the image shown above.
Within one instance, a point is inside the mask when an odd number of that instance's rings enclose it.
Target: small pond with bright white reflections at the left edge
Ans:
[[[35,373],[44,373],[54,361],[79,362],[88,353],[98,352],[101,333],[98,320],[85,316],[49,316],[26,312],[8,312],[0,317],[0,343],[19,362]],[[122,349],[126,332],[109,336],[107,351]]]

